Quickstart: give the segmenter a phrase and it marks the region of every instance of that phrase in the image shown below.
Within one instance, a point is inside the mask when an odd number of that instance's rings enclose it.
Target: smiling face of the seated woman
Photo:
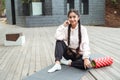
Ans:
[[[72,27],[76,27],[79,19],[80,19],[79,16],[74,12],[71,12],[68,16],[68,20],[70,24],[72,25]]]

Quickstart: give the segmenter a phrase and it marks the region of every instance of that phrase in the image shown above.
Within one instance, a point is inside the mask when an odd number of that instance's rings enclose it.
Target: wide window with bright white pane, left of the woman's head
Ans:
[[[32,15],[52,15],[52,0],[32,0]]]

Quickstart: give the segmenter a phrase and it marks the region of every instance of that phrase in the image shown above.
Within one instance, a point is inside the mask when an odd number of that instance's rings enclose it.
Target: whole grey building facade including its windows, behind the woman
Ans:
[[[81,24],[105,23],[105,0],[6,0],[7,21],[25,27],[56,26],[67,19],[69,9],[77,9]]]

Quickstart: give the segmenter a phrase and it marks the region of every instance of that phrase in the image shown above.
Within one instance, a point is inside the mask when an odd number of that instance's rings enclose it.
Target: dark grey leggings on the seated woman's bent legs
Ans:
[[[66,54],[66,50],[67,50],[67,46],[66,46],[65,42],[57,40],[56,46],[55,46],[55,61],[60,61],[63,56],[67,60],[68,59],[72,60],[72,63],[71,63],[72,67],[76,67],[79,69],[85,69],[84,68],[84,60],[82,59],[82,55],[76,59],[76,57]]]

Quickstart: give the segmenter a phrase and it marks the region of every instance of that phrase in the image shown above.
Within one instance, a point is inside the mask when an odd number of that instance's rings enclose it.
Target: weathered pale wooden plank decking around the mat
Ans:
[[[54,33],[57,26],[23,28],[0,23],[0,80],[22,80],[54,63]],[[92,54],[111,56],[111,66],[92,69],[81,80],[120,79],[120,28],[86,26]],[[4,46],[5,34],[23,32],[23,46]]]

